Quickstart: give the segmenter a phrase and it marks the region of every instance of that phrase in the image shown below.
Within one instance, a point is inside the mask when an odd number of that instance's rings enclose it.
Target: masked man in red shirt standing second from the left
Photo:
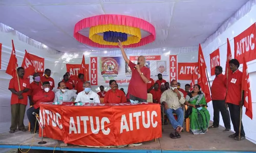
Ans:
[[[33,96],[38,92],[41,91],[43,86],[40,81],[40,76],[38,73],[33,74],[33,82],[30,83],[30,90],[28,92],[28,99],[29,99],[29,104],[30,106],[33,106],[35,103],[33,101]]]

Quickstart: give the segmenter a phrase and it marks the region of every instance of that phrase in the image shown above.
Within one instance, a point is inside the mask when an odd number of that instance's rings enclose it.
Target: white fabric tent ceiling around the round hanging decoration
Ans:
[[[134,49],[197,46],[248,0],[0,0],[0,22],[61,52],[107,50],[73,37],[83,18],[120,14],[155,26],[156,40]]]

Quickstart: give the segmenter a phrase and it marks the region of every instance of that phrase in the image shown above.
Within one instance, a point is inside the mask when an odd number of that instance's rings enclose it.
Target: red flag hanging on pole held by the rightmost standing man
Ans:
[[[244,57],[243,57],[242,90],[244,91],[244,107],[246,108],[245,114],[252,119],[252,96],[251,96],[250,80],[249,80],[247,64]]]

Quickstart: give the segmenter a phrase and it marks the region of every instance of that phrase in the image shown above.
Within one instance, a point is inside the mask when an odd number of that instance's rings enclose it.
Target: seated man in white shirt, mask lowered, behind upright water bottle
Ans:
[[[61,104],[60,97],[62,97],[62,102],[71,102],[73,101],[73,98],[77,97],[77,94],[74,91],[66,88],[65,82],[59,82],[58,87],[60,90],[55,93],[54,102],[59,101]]]

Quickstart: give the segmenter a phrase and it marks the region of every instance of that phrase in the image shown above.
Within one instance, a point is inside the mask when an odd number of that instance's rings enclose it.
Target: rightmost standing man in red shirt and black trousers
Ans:
[[[228,80],[225,80],[225,85],[228,88],[226,103],[228,103],[230,118],[234,127],[234,134],[229,135],[235,140],[238,140],[239,135],[239,123],[240,123],[240,108],[243,106],[244,102],[244,91],[242,91],[242,72],[238,70],[239,62],[236,59],[231,59],[229,61],[229,68],[231,74],[228,75]],[[242,93],[242,97],[241,97]],[[243,130],[243,123],[241,121],[241,132],[240,139],[245,139],[245,133]]]

